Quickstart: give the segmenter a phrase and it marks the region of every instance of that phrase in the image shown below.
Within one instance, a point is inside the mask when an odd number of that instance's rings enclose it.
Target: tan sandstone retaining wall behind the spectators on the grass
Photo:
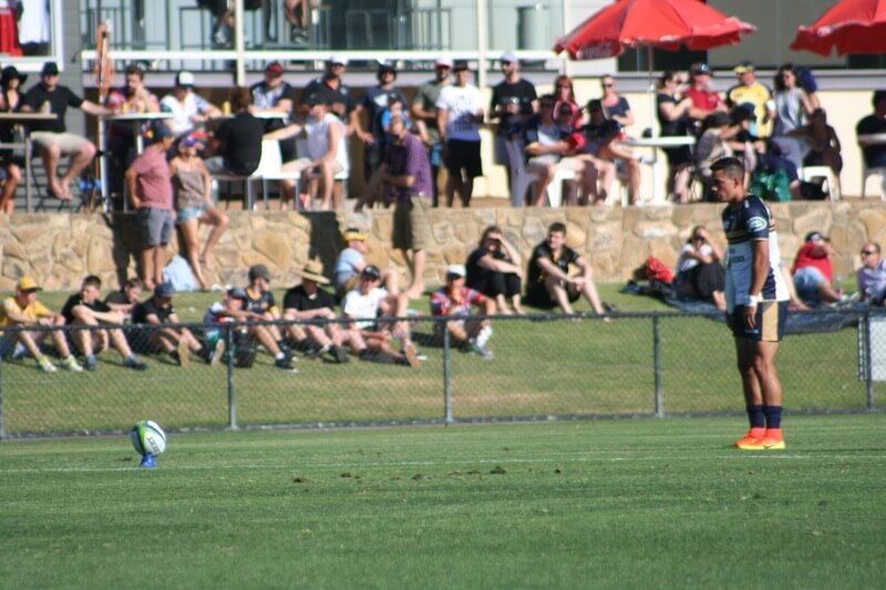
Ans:
[[[554,221],[565,221],[567,242],[588,257],[598,281],[620,282],[653,253],[673,266],[692,226],[707,227],[721,245],[721,205],[677,207],[565,209],[436,209],[431,214],[425,282],[442,282],[446,265],[464,262],[487,225],[501,226],[528,256]],[[886,245],[886,208],[878,200],[773,204],[782,257],[790,262],[803,236],[830,235],[838,252],[835,273],[848,276],[858,266],[857,252],[867,239]],[[297,282],[308,258],[322,260],[331,276],[341,248],[339,231],[349,225],[371,234],[369,259],[394,265],[408,279],[404,260],[391,250],[390,210],[364,214],[230,211],[230,229],[216,250],[208,273],[219,284],[243,284],[250,265],[265,263],[276,286]],[[100,276],[116,287],[135,275],[135,226],[131,215],[35,214],[0,215],[0,291],[13,289],[18,277],[32,275],[49,290],[73,290],[85,275]],[[177,240],[171,245],[177,250]],[[524,260],[525,261],[525,260]]]

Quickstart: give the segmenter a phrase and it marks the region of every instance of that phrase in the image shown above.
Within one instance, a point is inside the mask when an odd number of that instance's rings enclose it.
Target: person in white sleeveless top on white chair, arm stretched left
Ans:
[[[308,104],[310,112],[303,124],[293,123],[275,132],[265,134],[265,139],[286,139],[305,131],[308,137],[308,156],[293,159],[284,164],[282,172],[301,173],[301,186],[307,187],[311,174],[315,172],[320,177],[320,193],[322,201],[320,209],[328,211],[341,209],[341,195],[334,195],[336,175],[349,169],[348,148],[344,142],[344,125],[341,120],[332,114],[322,96],[311,94],[302,101]],[[280,199],[281,208],[295,196],[296,182],[285,179],[280,182],[284,189]],[[310,204],[310,199],[306,201]]]

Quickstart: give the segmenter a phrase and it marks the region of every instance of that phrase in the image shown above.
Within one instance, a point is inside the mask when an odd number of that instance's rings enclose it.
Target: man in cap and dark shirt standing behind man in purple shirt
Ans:
[[[398,87],[396,68],[393,64],[382,62],[379,64],[375,77],[378,84],[368,89],[357,106],[358,117],[360,113],[365,113],[367,125],[358,124],[357,135],[363,142],[363,178],[369,180],[372,174],[379,169],[381,158],[384,154],[387,137],[382,125],[381,115],[394,101],[408,104],[406,95]],[[359,118],[358,118],[359,123]]]

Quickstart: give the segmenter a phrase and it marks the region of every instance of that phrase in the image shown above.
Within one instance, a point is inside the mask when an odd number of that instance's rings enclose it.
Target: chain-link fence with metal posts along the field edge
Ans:
[[[886,380],[886,315],[825,313],[832,327],[836,317],[844,328],[789,335],[779,350],[787,411],[874,410]],[[144,371],[125,366],[124,353],[113,350],[113,331],[110,350],[97,355],[94,371],[65,371],[60,339],[34,329],[35,340],[45,337],[58,370],[41,371],[32,356],[21,355],[21,348],[7,351],[11,356],[0,363],[0,436],[121,432],[142,418],[186,431],[740,413],[733,340],[715,320],[671,312],[622,313],[611,321],[494,317],[487,343],[494,358],[487,359],[457,345],[441,320],[419,317],[410,318],[419,366],[399,364],[401,342],[392,339],[392,355],[364,353],[361,359],[351,350],[347,363],[331,352],[311,354],[296,346],[293,370],[275,364],[272,344],[255,348],[251,366],[238,366],[248,361],[238,335],[247,324],[216,327],[226,352],[219,346],[215,359],[202,356],[203,324],[172,327],[195,335],[192,350],[181,352],[164,343],[156,329],[115,328],[148,365]],[[323,328],[317,322],[272,324],[282,334],[292,327]],[[434,338],[435,324],[442,338]],[[109,327],[56,332],[82,364],[84,339],[101,346],[102,328],[107,332]],[[7,329],[7,344],[17,330]],[[189,363],[179,364],[175,354]]]

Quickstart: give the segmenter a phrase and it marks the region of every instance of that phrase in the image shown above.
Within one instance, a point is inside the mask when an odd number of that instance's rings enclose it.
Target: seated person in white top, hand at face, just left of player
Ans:
[[[677,260],[674,287],[683,297],[713,301],[717,309],[725,311],[725,269],[723,252],[702,226],[696,226],[680,250]]]

